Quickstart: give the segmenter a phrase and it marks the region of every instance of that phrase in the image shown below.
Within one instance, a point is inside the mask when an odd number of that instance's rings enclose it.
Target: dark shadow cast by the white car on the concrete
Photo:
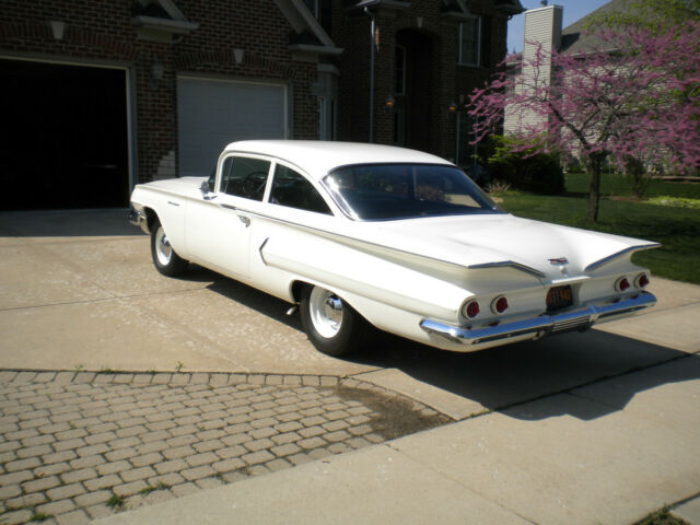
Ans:
[[[209,278],[209,290],[301,331],[299,315],[285,315],[289,303],[203,268],[195,267],[187,279]],[[202,276],[198,277],[200,271]],[[684,358],[687,365],[667,366],[664,374],[634,372],[657,368]],[[346,361],[396,369],[417,382],[434,386],[475,402],[483,410],[509,409],[520,419],[545,419],[570,415],[595,419],[622,409],[635,394],[666,383],[700,378],[700,359],[686,352],[599,330],[559,334],[539,341],[525,341],[478,352],[438,350],[389,334]],[[629,377],[632,377],[630,380]],[[609,378],[625,377],[603,404],[582,406],[560,396],[556,404],[540,404],[534,413],[518,406],[545,396],[567,393]],[[390,387],[390,386],[389,386]]]

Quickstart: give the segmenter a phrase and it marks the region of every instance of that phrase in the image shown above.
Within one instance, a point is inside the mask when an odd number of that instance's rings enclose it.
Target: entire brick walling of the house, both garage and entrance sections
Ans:
[[[505,55],[506,18],[490,0],[470,0],[476,14],[491,21],[491,66]],[[136,178],[150,180],[176,174],[178,73],[230,79],[285,82],[292,98],[291,133],[315,139],[318,114],[308,84],[316,79],[314,63],[294,61],[287,47],[291,26],[272,0],[177,0],[180,11],[199,27],[173,44],[140,40],[130,23],[132,0],[0,0],[0,55],[121,65],[135,85]],[[413,101],[429,108],[428,142],[422,147],[444,158],[455,150],[455,117],[450,102],[466,100],[490,68],[457,65],[458,21],[441,14],[439,0],[412,0],[410,8],[381,8],[375,62],[375,141],[392,143],[394,114],[384,107],[394,94],[395,46],[398,32],[422,35],[430,42],[430,74],[420,79],[430,93]],[[345,52],[337,59],[338,139],[369,140],[370,18],[332,1],[331,38]],[[49,20],[67,22],[61,40],[54,39]],[[486,19],[485,19],[486,20]],[[411,33],[412,32],[412,33]],[[234,49],[244,51],[235,60]],[[163,79],[151,81],[151,66],[164,66]],[[175,160],[175,163],[173,162]]]

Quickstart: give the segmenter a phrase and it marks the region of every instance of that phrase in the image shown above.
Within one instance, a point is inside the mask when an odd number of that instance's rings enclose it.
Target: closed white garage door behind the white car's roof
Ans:
[[[287,137],[283,85],[178,78],[177,103],[180,177],[209,176],[235,140]]]

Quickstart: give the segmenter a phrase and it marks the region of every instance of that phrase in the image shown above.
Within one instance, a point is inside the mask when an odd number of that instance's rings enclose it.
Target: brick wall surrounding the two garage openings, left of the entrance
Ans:
[[[293,138],[317,137],[317,107],[307,96],[315,65],[292,61],[291,26],[272,0],[178,0],[199,27],[179,42],[137,38],[130,23],[132,0],[0,0],[0,55],[127,67],[135,85],[137,180],[176,173],[178,73],[287,82],[291,89]],[[49,20],[67,23],[52,37]],[[235,61],[233,49],[243,49]],[[152,83],[151,66],[164,66]],[[170,172],[168,172],[170,170]]]

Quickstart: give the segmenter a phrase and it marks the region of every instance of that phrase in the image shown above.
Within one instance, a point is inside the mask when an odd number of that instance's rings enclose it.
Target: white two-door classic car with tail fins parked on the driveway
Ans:
[[[192,261],[299,306],[342,355],[385,330],[455,351],[583,330],[655,304],[637,238],[521,219],[402,148],[241,141],[215,173],[137,185],[155,268]]]

